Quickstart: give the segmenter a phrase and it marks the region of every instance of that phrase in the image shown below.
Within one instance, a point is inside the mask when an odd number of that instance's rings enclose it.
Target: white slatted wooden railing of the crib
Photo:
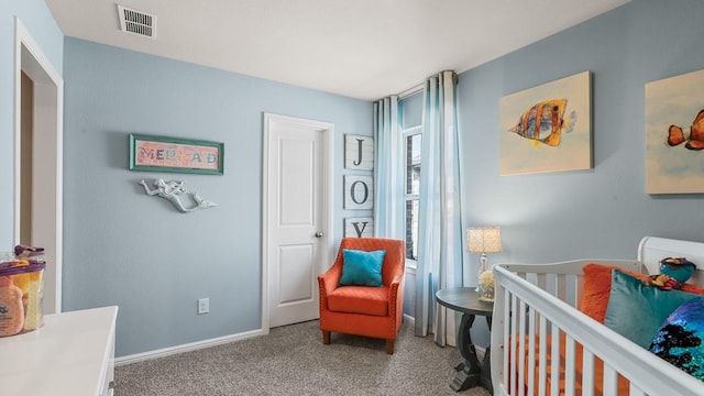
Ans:
[[[494,394],[619,395],[619,376],[620,395],[704,394],[704,385],[694,377],[576,309],[582,266],[592,262],[640,267],[634,261],[613,260],[494,267]],[[601,361],[603,370],[596,375]]]

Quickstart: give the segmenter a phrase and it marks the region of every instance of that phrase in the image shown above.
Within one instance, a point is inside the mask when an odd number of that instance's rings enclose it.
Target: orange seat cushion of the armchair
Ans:
[[[388,287],[338,287],[328,295],[328,308],[336,312],[388,316]]]

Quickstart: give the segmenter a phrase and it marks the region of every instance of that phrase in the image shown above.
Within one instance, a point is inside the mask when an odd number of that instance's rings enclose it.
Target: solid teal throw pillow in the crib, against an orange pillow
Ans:
[[[682,302],[698,297],[661,290],[620,271],[612,271],[612,290],[604,326],[648,349],[660,326]]]

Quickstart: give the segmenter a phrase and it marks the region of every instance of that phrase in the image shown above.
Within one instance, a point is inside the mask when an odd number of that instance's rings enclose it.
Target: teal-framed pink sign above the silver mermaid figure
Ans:
[[[130,170],[222,175],[224,143],[130,134]]]

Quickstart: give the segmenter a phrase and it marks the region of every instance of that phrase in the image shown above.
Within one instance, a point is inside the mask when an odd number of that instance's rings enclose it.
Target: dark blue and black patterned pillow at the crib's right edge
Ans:
[[[704,381],[704,297],[678,307],[660,327],[649,351]]]

